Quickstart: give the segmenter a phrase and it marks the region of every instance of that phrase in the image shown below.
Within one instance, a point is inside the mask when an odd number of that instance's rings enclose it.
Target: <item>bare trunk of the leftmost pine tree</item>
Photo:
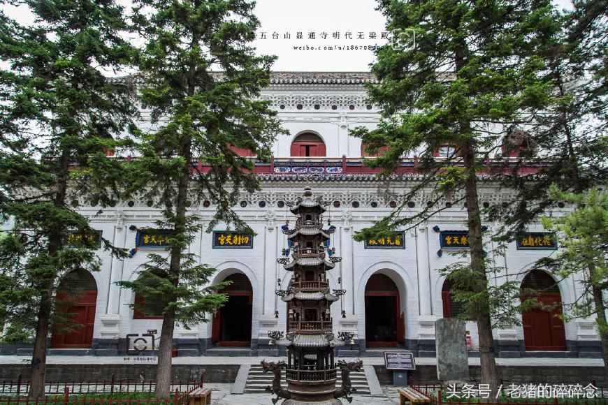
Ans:
[[[59,182],[53,200],[55,207],[64,207],[68,189],[67,176],[69,165],[69,152],[64,150],[59,161]],[[52,232],[48,236],[48,253],[51,258],[57,258],[61,246],[61,234]],[[55,272],[57,274],[57,272]],[[38,307],[38,322],[36,323],[36,338],[34,339],[34,352],[31,355],[31,379],[28,397],[40,398],[44,396],[44,383],[46,374],[47,338],[50,329],[53,293],[55,290],[55,275],[48,280],[46,291],[41,297]]]

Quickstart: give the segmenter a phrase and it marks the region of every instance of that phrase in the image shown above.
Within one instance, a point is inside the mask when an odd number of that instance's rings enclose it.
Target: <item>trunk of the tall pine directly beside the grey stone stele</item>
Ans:
[[[475,165],[475,149],[470,139],[462,145],[467,179],[465,183],[465,199],[467,202],[469,247],[471,267],[480,275],[475,292],[487,289],[486,264],[484,259],[484,244],[482,241],[482,219],[479,214],[479,198],[477,195],[477,172]],[[497,378],[494,352],[494,339],[492,335],[492,322],[490,318],[489,303],[477,309],[477,333],[479,334],[479,360],[481,365],[482,384],[488,384],[493,397],[496,395]]]

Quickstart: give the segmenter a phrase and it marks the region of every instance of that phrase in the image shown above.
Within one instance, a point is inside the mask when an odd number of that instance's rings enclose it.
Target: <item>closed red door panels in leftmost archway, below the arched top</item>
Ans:
[[[97,291],[85,291],[78,302],[75,302],[73,306],[67,309],[63,309],[64,312],[74,314],[72,316],[74,321],[82,325],[82,327],[66,334],[53,333],[51,336],[52,348],[91,347],[95,326],[96,302]]]

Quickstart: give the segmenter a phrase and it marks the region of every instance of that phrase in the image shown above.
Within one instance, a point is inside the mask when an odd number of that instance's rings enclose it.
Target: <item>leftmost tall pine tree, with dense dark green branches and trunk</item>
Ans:
[[[57,299],[66,274],[99,269],[91,246],[68,244],[90,233],[78,203],[113,204],[119,164],[107,159],[113,136],[132,114],[128,86],[108,70],[131,58],[121,38],[122,9],[112,0],[27,0],[36,20],[0,18],[0,212],[14,228],[0,241],[0,307],[6,339],[35,335],[30,397],[44,395],[47,338],[74,328]],[[73,191],[73,193],[71,192]],[[103,241],[106,249],[120,256]]]

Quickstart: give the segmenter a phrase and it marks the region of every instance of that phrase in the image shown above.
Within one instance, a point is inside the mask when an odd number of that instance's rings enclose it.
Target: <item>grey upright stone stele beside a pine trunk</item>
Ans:
[[[435,322],[439,381],[468,381],[469,359],[465,336],[465,321],[444,318]]]

